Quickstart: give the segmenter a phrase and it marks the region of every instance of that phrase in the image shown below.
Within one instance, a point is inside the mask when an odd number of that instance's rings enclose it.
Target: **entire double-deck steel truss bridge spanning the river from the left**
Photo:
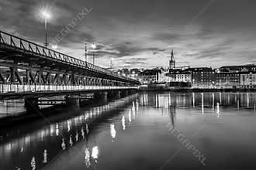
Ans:
[[[137,90],[139,82],[0,31],[0,100]]]

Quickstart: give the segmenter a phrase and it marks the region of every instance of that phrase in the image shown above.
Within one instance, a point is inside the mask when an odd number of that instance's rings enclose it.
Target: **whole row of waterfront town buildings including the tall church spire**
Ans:
[[[168,69],[163,67],[152,70],[123,69],[118,73],[139,80],[142,84],[165,83],[170,87],[194,88],[256,88],[256,65],[254,64],[222,66],[216,70],[211,67],[176,66],[173,50],[171,50]]]

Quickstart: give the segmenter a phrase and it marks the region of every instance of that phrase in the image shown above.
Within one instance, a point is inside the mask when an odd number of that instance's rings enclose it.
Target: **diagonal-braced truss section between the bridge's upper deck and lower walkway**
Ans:
[[[5,68],[5,69],[3,69]],[[123,86],[126,83],[104,79],[97,76],[91,76],[87,73],[78,74],[61,72],[56,70],[44,70],[33,66],[17,65],[14,63],[2,63],[0,68],[1,83],[19,83],[19,84],[41,84],[41,85],[97,85],[97,86]],[[126,84],[127,85],[127,84]]]

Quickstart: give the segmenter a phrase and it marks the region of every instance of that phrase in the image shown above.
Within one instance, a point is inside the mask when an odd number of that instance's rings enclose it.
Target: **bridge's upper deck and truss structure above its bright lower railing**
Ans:
[[[35,88],[38,85],[56,85],[78,88],[79,86],[133,87],[139,84],[137,80],[119,76],[92,63],[2,31],[0,31],[0,63],[2,85],[26,84],[35,85]]]

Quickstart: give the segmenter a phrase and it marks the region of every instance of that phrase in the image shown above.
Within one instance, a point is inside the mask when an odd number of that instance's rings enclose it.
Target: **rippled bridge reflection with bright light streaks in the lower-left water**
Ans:
[[[137,95],[133,94],[129,97],[113,100],[97,107],[71,110],[74,112],[74,117],[69,116],[64,120],[52,122],[51,124],[44,121],[32,123],[30,126],[33,127],[33,129],[27,128],[26,124],[20,125],[19,131],[16,131],[16,128],[2,128],[0,155],[3,157],[1,159],[2,162],[0,162],[0,167],[2,167],[2,169],[13,169],[16,168],[18,164],[19,168],[26,169],[31,162],[31,151],[35,151],[36,161],[41,159],[44,150],[50,151],[48,152],[50,155],[57,156],[54,158],[48,155],[48,164],[46,162],[36,162],[36,169],[57,169],[56,167],[62,169],[63,165],[65,165],[65,158],[74,158],[74,155],[78,157],[83,156],[85,159],[85,148],[90,148],[92,154],[92,147],[97,145],[95,140],[88,140],[88,138],[91,138],[91,131],[94,131],[95,128],[95,130],[99,128],[99,122],[104,122],[106,127],[109,127],[112,122],[108,120],[116,115],[117,109],[128,107],[129,109],[125,110],[130,110],[132,106],[139,109],[139,104],[134,102],[136,99]],[[133,102],[134,105],[132,105]],[[126,113],[127,112],[128,111],[126,111]],[[126,121],[125,124],[127,123],[128,121]],[[93,134],[92,138],[95,139]],[[109,138],[107,140],[109,140]],[[75,147],[79,148],[79,151],[82,151],[82,153],[79,153],[78,149],[72,148],[70,141],[74,142]],[[20,152],[21,149],[24,159],[19,159],[20,155],[15,154]],[[94,157],[92,157],[91,154],[87,155],[87,162],[94,161]],[[9,155],[13,155],[13,157],[11,158]],[[14,159],[16,160],[16,158],[18,158],[16,164],[5,163],[11,162]]]

